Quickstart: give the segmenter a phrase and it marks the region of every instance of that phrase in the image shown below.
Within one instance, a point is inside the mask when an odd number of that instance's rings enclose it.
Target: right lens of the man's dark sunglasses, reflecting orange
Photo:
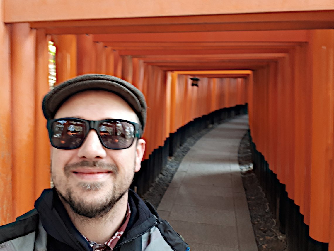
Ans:
[[[135,127],[129,122],[105,121],[100,124],[99,130],[103,143],[110,149],[128,148],[135,139]]]

